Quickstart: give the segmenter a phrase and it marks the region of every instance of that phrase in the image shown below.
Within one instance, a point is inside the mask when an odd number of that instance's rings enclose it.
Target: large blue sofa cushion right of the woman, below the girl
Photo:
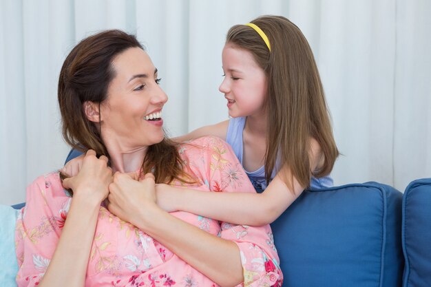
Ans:
[[[377,182],[304,191],[271,225],[283,286],[401,286],[401,201]]]

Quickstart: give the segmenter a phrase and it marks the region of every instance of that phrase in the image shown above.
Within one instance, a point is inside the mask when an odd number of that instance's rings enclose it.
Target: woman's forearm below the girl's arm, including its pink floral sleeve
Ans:
[[[222,223],[220,237],[162,211],[154,204],[136,217],[142,228],[220,286],[273,286],[282,282],[269,226]],[[156,218],[156,220],[154,220]],[[271,264],[272,268],[268,268]]]

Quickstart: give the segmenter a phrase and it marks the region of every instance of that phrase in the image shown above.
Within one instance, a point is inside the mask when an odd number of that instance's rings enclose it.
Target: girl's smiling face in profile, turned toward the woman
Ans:
[[[222,52],[224,80],[219,87],[229,116],[264,116],[266,75],[251,52],[227,43]]]

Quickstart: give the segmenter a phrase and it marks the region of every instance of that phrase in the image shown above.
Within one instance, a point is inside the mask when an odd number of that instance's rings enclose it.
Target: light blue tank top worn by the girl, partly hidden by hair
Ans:
[[[229,120],[229,125],[227,127],[226,142],[231,145],[233,152],[240,160],[242,164],[242,131],[244,130],[246,118],[231,118]],[[275,164],[275,169],[271,174],[271,180],[275,177],[278,171],[278,164]],[[249,176],[253,187],[258,193],[264,191],[267,187],[265,180],[265,167],[262,166],[255,171],[245,171],[246,175]],[[330,176],[325,176],[323,178],[311,178],[310,187],[312,189],[322,189],[324,187],[333,187],[333,179]]]

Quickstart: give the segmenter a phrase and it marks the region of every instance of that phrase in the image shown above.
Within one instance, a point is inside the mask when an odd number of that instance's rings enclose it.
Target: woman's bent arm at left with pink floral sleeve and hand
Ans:
[[[111,181],[107,158],[89,151],[78,176],[63,182],[74,191],[72,199],[55,173],[29,186],[17,224],[19,286],[84,286],[98,211]]]

